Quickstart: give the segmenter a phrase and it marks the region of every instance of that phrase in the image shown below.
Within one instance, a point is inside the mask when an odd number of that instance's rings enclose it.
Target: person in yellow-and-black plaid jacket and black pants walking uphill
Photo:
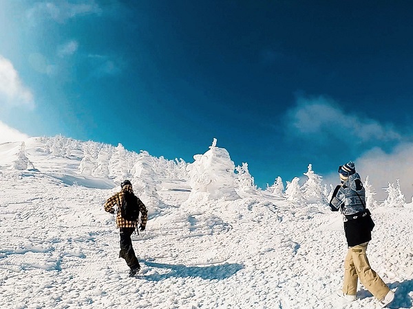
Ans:
[[[138,228],[138,220],[136,221],[125,220],[125,218],[122,217],[122,214],[120,212],[120,205],[122,205],[123,196],[125,195],[125,192],[127,191],[133,194],[134,191],[132,190],[132,184],[129,180],[123,181],[120,184],[120,187],[122,190],[120,190],[120,192],[108,198],[105,203],[104,208],[105,208],[105,211],[109,212],[110,214],[114,214],[115,213],[114,207],[116,205],[118,206],[118,210],[116,214],[116,225],[119,228],[119,235],[120,235],[119,258],[125,259],[127,266],[129,266],[130,268],[129,277],[133,277],[140,270],[140,264],[138,262],[138,258],[136,258],[134,248],[132,247],[132,240],[131,240],[132,233],[134,233],[135,229]],[[138,198],[138,206],[139,206],[139,211],[140,211],[139,229],[140,231],[144,231],[146,224],[147,224],[148,211],[145,205],[142,203],[142,201],[140,201],[139,198]]]

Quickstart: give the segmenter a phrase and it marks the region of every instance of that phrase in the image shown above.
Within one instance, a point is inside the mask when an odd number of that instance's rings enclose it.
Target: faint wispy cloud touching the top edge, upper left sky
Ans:
[[[58,23],[65,23],[68,19],[72,19],[79,15],[101,14],[98,3],[94,0],[85,0],[83,3],[72,3],[72,1],[45,1],[36,3],[33,8],[28,11],[28,19],[36,21],[49,17]]]

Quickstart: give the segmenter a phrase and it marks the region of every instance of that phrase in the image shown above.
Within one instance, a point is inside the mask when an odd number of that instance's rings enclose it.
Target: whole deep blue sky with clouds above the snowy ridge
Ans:
[[[413,193],[412,20],[410,1],[0,0],[0,122],[187,162],[215,137],[263,188],[353,160]]]

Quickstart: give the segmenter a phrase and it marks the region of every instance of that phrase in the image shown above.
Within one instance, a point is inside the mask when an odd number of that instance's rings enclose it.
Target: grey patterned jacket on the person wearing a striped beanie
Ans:
[[[338,188],[338,190],[337,190]],[[332,211],[341,210],[343,220],[345,216],[357,214],[364,211],[366,207],[366,191],[361,183],[358,173],[352,174],[341,186],[337,186],[330,201]],[[357,195],[358,194],[358,195]]]

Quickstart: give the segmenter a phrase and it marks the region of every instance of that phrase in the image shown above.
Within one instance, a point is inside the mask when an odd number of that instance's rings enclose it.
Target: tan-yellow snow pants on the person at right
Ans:
[[[343,293],[346,295],[356,295],[357,279],[365,286],[370,293],[381,300],[390,288],[385,285],[381,277],[370,267],[366,255],[368,242],[359,244],[348,249],[346,260],[344,260],[344,283]]]

